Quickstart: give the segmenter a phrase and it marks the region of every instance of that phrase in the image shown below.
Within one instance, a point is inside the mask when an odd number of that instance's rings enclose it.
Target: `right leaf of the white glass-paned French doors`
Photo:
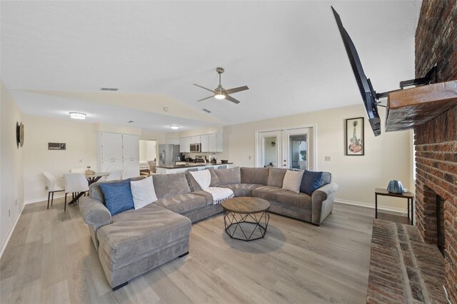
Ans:
[[[283,131],[283,168],[313,170],[313,136],[309,128]]]

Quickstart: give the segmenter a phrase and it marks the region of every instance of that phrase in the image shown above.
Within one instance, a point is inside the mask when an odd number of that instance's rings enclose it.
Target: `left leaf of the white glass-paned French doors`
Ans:
[[[282,132],[258,133],[258,167],[280,167],[282,157]]]

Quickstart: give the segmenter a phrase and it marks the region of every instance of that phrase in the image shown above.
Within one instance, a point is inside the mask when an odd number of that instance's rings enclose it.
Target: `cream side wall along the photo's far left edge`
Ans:
[[[6,246],[11,230],[24,206],[22,158],[24,148],[29,144],[32,130],[24,123],[24,147],[16,146],[16,123],[21,123],[21,111],[13,97],[1,82],[0,97],[0,256]]]

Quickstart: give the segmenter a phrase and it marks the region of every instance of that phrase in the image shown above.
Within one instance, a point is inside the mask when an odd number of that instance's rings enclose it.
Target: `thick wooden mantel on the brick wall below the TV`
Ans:
[[[420,126],[453,106],[457,106],[457,81],[393,91],[388,93],[386,132]]]

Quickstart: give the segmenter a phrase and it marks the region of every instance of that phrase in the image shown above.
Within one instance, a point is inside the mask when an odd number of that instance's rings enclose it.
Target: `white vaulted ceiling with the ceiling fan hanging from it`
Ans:
[[[420,1],[1,1],[1,81],[24,113],[156,131],[360,103],[330,6],[376,91],[413,78]],[[238,105],[209,98],[222,66]],[[119,88],[116,92],[102,87]],[[165,109],[164,109],[165,108]],[[202,111],[208,109],[211,113]],[[166,110],[166,111],[165,111]]]

